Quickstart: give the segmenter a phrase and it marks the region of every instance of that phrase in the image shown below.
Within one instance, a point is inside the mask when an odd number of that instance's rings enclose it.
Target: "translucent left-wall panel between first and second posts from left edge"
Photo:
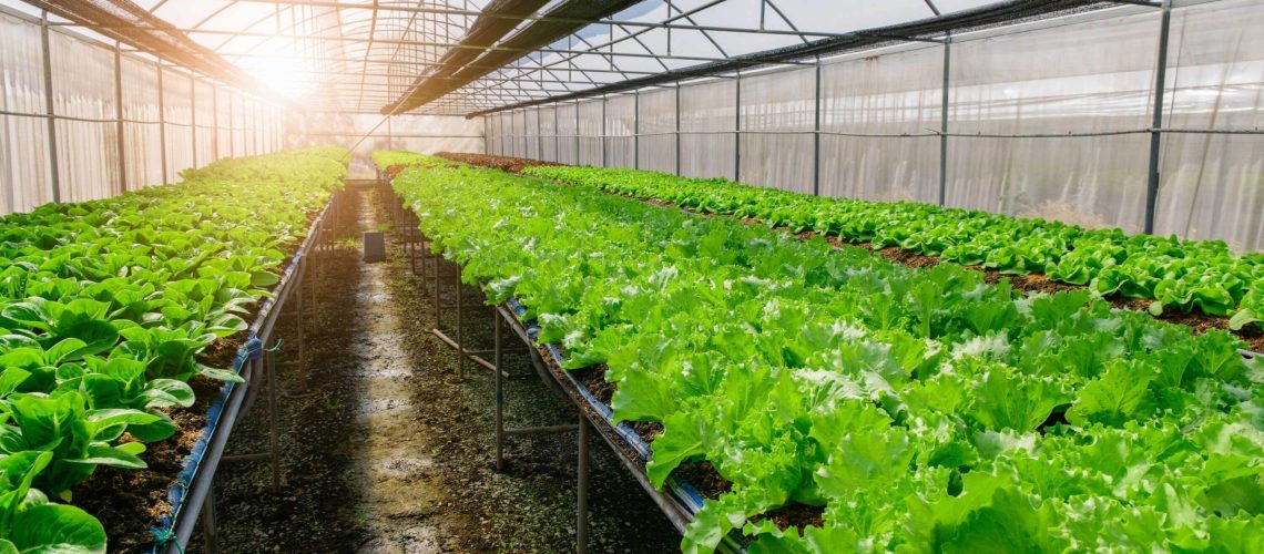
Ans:
[[[119,187],[114,52],[49,33],[57,168],[62,202],[112,196]]]

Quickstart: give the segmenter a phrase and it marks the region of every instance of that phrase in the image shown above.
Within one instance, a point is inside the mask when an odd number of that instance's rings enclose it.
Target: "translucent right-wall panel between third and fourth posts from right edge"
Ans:
[[[741,87],[738,178],[743,183],[811,194],[817,69],[742,77]]]

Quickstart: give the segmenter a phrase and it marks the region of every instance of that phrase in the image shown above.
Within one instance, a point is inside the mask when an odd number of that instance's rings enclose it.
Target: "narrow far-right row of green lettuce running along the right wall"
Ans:
[[[1044,274],[1087,285],[1096,295],[1153,300],[1155,314],[1164,309],[1232,314],[1234,329],[1264,319],[1264,254],[1239,255],[1222,241],[1127,235],[1117,228],[1088,230],[913,202],[822,198],[636,169],[536,167],[523,173],[699,212],[753,217],[795,232],[813,230],[876,247],[900,246],[962,265]]]

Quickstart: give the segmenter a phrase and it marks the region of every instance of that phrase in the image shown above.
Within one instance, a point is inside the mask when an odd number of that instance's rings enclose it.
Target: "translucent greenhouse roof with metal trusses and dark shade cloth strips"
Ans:
[[[16,4],[15,0],[0,0]],[[28,0],[316,110],[470,115],[1144,0]]]

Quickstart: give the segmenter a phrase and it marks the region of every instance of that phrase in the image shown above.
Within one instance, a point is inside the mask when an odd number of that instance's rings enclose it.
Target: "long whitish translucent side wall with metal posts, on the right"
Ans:
[[[1120,6],[497,112],[488,149],[1141,232],[1158,133],[1153,232],[1261,250],[1264,3],[1170,14],[1158,131],[1162,10]]]

